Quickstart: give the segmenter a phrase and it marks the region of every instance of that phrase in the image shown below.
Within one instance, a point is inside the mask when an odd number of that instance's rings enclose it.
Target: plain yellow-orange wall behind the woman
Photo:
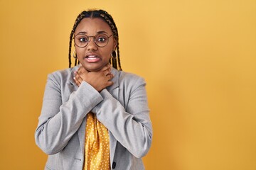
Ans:
[[[0,169],[43,169],[33,135],[46,77],[68,67],[87,8],[112,14],[124,71],[147,81],[146,169],[256,169],[255,0],[1,0]]]

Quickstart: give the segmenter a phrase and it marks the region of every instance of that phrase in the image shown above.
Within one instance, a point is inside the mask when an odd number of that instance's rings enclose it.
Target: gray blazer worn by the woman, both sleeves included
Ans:
[[[85,81],[76,86],[77,69],[48,75],[35,133],[36,145],[49,155],[45,169],[82,170],[90,111],[109,130],[111,169],[144,169],[152,140],[144,79],[112,68],[114,84],[99,93]]]

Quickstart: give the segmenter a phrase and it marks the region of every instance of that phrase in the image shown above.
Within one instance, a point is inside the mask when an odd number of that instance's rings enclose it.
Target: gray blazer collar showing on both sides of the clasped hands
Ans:
[[[75,73],[74,72],[77,71],[79,67],[80,67],[80,64],[75,66],[75,67],[73,67],[73,68],[71,68],[69,82],[73,86],[76,86],[75,81],[73,79],[75,77]],[[111,72],[114,75],[113,79],[111,79],[111,81],[113,81],[114,84],[112,84],[112,86],[108,86],[107,87],[107,91],[112,91],[112,90],[116,89],[117,87],[119,87],[119,71],[112,67],[111,68]]]

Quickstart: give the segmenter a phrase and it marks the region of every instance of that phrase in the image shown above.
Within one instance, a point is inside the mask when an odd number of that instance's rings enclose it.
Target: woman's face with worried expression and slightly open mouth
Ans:
[[[95,35],[107,35],[108,43],[105,47],[98,47],[95,44],[94,38],[90,36]],[[105,21],[100,18],[83,18],[75,29],[75,38],[79,37],[82,42],[85,40],[85,36],[89,37],[89,42],[85,47],[78,47],[75,45],[75,51],[78,56],[80,64],[82,64],[87,71],[99,71],[106,64],[110,62],[110,56],[116,47],[116,40],[112,35],[112,30]],[[112,35],[112,36],[110,36]],[[102,43],[104,38],[97,38],[96,41]]]

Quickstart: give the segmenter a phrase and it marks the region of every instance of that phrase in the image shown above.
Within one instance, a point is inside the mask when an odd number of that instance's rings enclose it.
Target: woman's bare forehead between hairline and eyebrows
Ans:
[[[100,31],[112,33],[110,26],[101,18],[83,18],[75,29],[75,34],[86,32],[89,34],[96,34]]]

